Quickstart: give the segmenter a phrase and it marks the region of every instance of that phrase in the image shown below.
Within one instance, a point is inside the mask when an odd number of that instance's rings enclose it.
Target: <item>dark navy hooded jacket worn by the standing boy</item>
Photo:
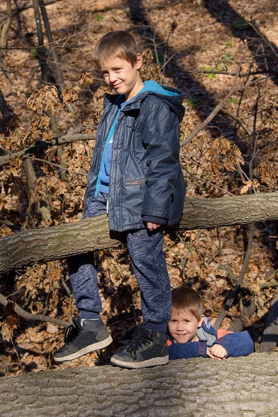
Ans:
[[[108,198],[109,228],[114,231],[145,228],[143,217],[175,224],[183,213],[186,184],[179,163],[179,122],[184,115],[184,94],[152,83],[158,88],[144,88],[117,117]],[[84,218],[95,197],[108,133],[124,99],[123,95],[104,99],[88,172]]]

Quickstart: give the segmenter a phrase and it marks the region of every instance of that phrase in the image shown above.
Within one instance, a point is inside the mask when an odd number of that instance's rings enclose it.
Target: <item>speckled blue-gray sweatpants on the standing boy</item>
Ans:
[[[83,218],[106,213],[108,195],[99,193]],[[170,320],[172,295],[163,253],[163,229],[128,231],[126,242],[131,265],[140,288],[142,315],[147,322]],[[70,281],[79,310],[101,312],[97,272],[92,252],[68,259]]]

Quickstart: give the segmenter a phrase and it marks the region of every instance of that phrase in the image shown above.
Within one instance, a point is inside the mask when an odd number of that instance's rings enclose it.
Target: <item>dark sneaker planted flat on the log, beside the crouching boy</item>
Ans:
[[[146,366],[168,363],[167,336],[161,332],[153,334],[152,329],[138,326],[138,336],[133,338],[129,347],[111,358],[113,365],[123,368],[145,368]]]

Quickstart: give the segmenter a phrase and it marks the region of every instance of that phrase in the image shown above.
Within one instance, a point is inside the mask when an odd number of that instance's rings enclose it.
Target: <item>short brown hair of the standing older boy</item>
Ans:
[[[97,42],[92,58],[98,67],[113,57],[122,58],[134,67],[138,54],[140,54],[138,43],[131,33],[112,31],[106,33]]]

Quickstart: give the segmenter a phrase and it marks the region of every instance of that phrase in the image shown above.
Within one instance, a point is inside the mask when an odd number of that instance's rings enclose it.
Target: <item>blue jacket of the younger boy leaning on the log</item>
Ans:
[[[210,320],[204,320],[202,327],[197,330],[199,342],[186,342],[181,345],[168,335],[169,359],[189,359],[207,357],[206,348],[215,344],[222,345],[227,350],[227,357],[246,356],[253,352],[254,343],[248,332],[226,332],[215,330]]]

